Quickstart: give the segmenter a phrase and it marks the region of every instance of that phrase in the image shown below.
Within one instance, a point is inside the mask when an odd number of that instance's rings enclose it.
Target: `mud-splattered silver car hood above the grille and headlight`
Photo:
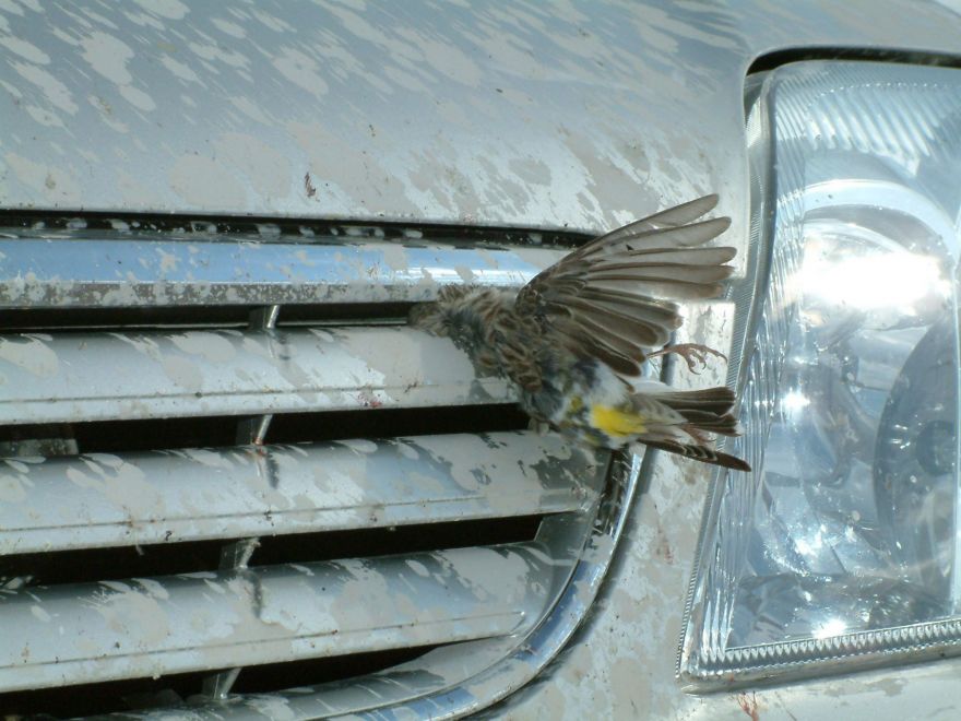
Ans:
[[[716,191],[743,232],[755,58],[957,44],[947,10],[821,4],[9,3],[0,198],[596,229]]]

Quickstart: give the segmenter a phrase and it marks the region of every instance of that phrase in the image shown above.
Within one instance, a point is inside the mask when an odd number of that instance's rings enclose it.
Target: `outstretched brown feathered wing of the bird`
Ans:
[[[733,272],[735,248],[702,247],[731,225],[698,220],[716,204],[705,196],[595,238],[531,280],[515,308],[576,355],[637,376],[680,326],[675,300],[716,297]]]

